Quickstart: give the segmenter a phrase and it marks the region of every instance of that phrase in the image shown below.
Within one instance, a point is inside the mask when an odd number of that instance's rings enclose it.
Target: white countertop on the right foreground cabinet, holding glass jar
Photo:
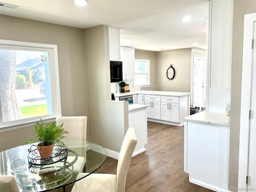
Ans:
[[[183,119],[185,121],[230,127],[230,117],[226,117],[226,113],[202,111]]]

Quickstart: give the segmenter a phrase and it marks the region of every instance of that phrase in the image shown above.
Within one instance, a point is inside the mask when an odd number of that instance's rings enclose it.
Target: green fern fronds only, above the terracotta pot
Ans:
[[[44,126],[44,121],[40,118],[40,122],[36,122],[36,125],[34,126],[34,135],[38,140],[30,139],[26,141],[25,144],[39,141],[39,146],[49,146],[51,144],[64,145],[61,140],[66,137],[64,134],[68,134],[69,132],[64,130],[62,126],[63,123],[61,125],[56,125],[56,121]]]

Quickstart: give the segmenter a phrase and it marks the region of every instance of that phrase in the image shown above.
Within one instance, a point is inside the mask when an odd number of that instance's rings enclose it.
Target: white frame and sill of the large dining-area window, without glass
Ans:
[[[44,115],[40,117],[43,120],[45,120],[44,122],[47,123],[47,122],[54,121],[57,116],[61,116],[60,80],[59,80],[60,78],[59,78],[57,45],[20,42],[20,41],[11,41],[11,40],[0,40],[0,49],[48,52],[51,94],[52,94],[52,114]],[[2,122],[2,109],[0,104],[0,132],[24,128],[28,126],[34,126],[35,122],[38,122],[38,121],[39,121],[39,116],[10,121],[10,122]]]

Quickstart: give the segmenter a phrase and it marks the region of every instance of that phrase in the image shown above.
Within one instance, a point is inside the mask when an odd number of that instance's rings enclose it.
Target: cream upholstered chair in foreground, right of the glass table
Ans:
[[[126,176],[136,143],[134,128],[128,128],[121,146],[116,175],[90,174],[75,182],[71,192],[124,192]],[[80,173],[77,178],[82,178],[87,174]]]

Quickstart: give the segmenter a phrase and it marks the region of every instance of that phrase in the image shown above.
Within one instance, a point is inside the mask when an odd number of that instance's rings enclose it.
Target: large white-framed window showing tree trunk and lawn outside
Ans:
[[[57,46],[0,40],[0,131],[60,116]]]

